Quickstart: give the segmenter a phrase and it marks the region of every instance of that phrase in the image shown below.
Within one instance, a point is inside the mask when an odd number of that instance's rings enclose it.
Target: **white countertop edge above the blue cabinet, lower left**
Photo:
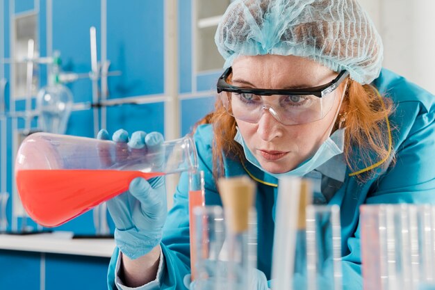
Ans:
[[[111,257],[115,248],[113,239],[72,239],[72,235],[72,232],[0,234],[0,250]]]

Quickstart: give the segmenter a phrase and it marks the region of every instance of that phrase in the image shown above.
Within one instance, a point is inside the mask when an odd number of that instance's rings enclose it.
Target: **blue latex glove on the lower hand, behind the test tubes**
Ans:
[[[219,274],[217,274],[217,268],[219,268]],[[251,277],[248,281],[249,287],[247,289],[249,290],[270,290],[268,287],[268,279],[266,278],[266,275],[261,272],[260,270],[256,268],[251,269]],[[227,276],[227,262],[225,261],[209,261],[209,263],[206,265],[206,271],[208,275],[208,279],[206,280],[195,280],[191,282],[190,274],[184,276],[183,283],[184,286],[186,286],[187,289],[190,290],[204,290],[204,289],[215,289],[216,288],[216,282],[215,278],[217,275],[221,277]],[[222,279],[221,279],[222,281]],[[220,286],[224,287],[224,284],[220,284]],[[224,287],[226,288],[226,287]]]

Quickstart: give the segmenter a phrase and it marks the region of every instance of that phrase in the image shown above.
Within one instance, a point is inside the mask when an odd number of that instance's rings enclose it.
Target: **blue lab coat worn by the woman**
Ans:
[[[359,206],[376,203],[434,203],[435,201],[435,96],[415,84],[382,70],[373,85],[381,95],[393,100],[395,111],[389,121],[393,127],[395,166],[383,172],[373,168],[375,176],[361,183],[347,168],[343,185],[329,200],[338,204],[341,215],[343,283],[345,290],[362,289]],[[202,125],[195,133],[199,156],[199,170],[204,170],[206,204],[222,205],[212,176],[211,125]],[[355,156],[355,160],[359,160]],[[256,210],[258,214],[258,269],[270,279],[272,243],[274,236],[274,206],[277,198],[277,179],[245,161],[225,159],[227,176],[249,175],[256,179]],[[367,168],[362,166],[359,170]],[[188,215],[188,176],[181,180],[174,195],[174,207],[167,216],[161,247],[165,256],[162,289],[185,289],[183,277],[190,273]],[[115,250],[108,272],[113,285]],[[113,287],[113,286],[112,286]]]

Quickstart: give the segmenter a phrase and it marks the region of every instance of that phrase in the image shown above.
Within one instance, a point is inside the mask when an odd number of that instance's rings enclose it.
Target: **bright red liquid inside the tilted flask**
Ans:
[[[18,170],[17,186],[28,215],[44,227],[56,227],[127,191],[136,177],[161,175],[122,170]]]

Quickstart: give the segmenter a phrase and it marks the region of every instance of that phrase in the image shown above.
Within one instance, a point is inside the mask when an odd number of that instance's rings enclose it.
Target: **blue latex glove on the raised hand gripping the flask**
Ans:
[[[97,138],[108,140],[108,132],[104,129],[99,131]],[[136,131],[129,140],[129,134],[120,129],[113,134],[112,140],[120,143],[120,148],[127,145],[132,154],[140,154],[141,151],[145,154],[160,150],[163,136],[158,132],[146,134]],[[167,216],[166,204],[163,177],[149,179],[149,182],[141,177],[135,178],[130,182],[129,191],[107,201],[116,227],[115,243],[124,255],[137,259],[161,242]]]

